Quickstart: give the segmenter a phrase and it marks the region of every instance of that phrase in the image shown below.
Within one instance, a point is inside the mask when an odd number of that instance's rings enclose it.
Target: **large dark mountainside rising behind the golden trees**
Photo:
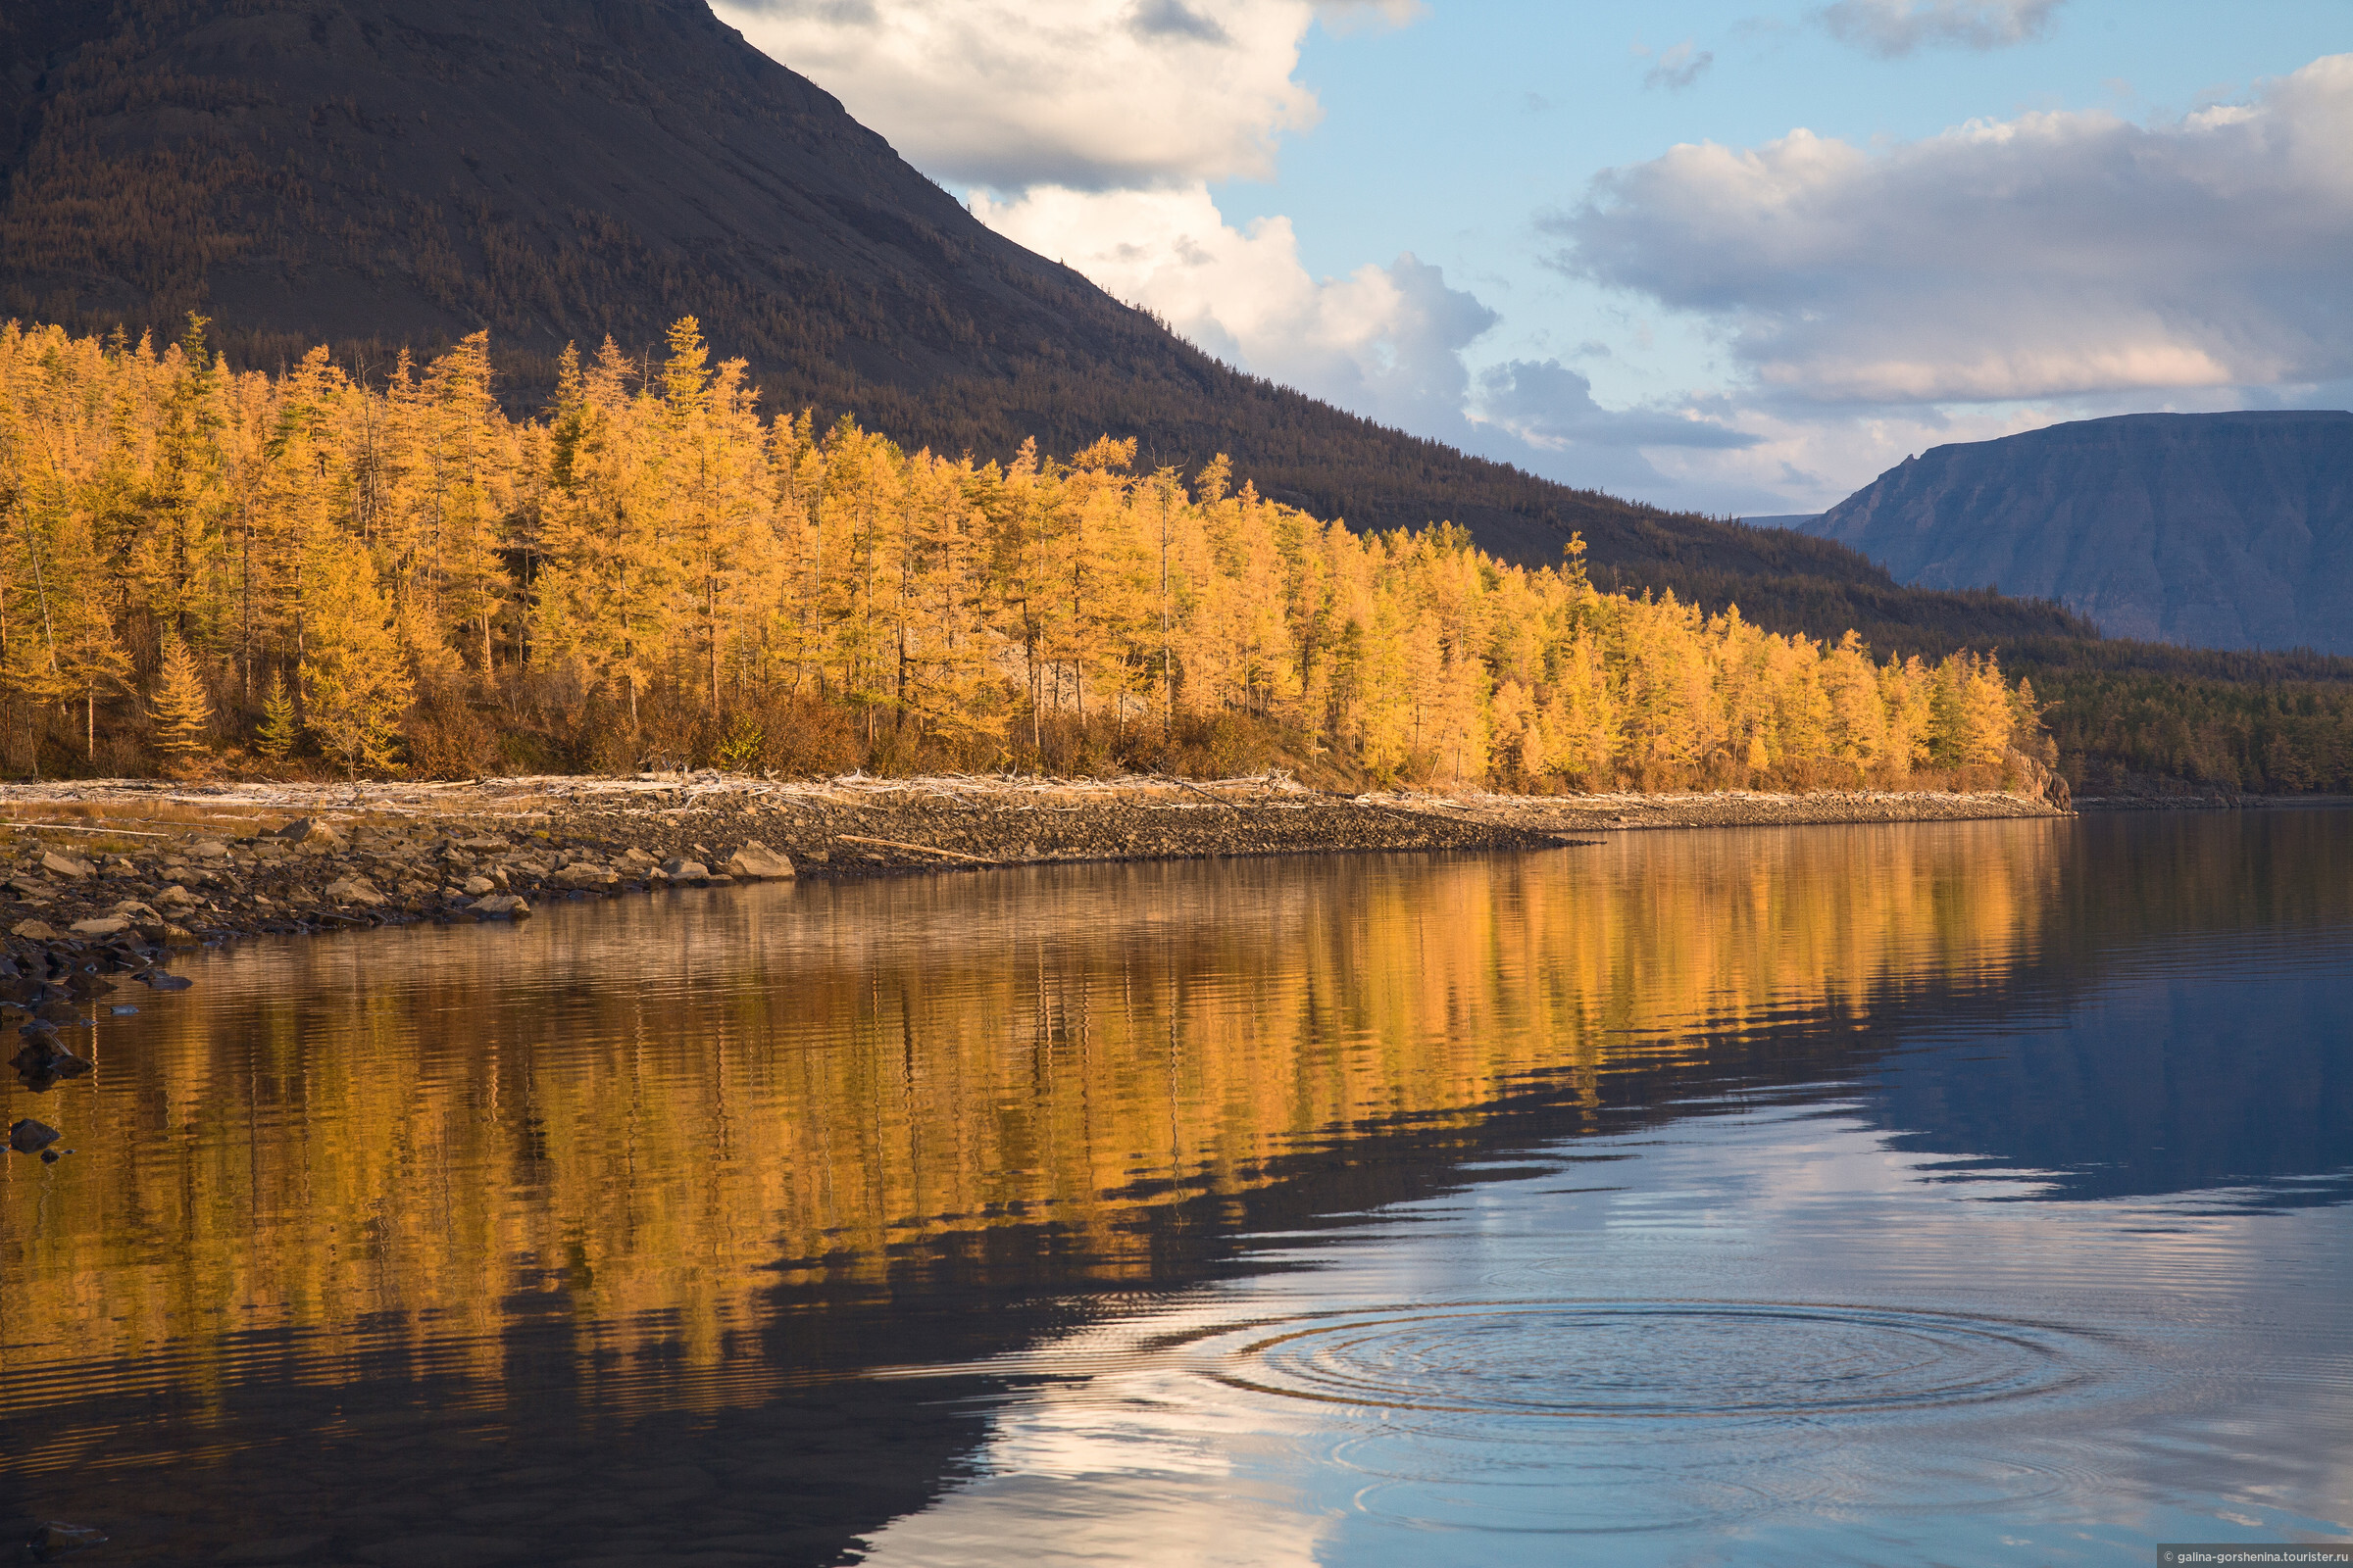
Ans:
[[[772,409],[1009,456],[1134,435],[1360,529],[1452,520],[1602,585],[1946,651],[2085,628],[1897,588],[1779,529],[1577,491],[1242,376],[972,219],[701,0],[47,0],[0,9],[0,313],[233,364],[384,369],[487,327],[534,407],[567,343],[696,315]]]

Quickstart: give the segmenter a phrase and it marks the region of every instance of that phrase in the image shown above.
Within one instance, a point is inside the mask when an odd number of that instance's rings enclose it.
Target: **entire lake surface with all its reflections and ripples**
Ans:
[[[252,945],[0,1117],[89,1563],[2353,1535],[2353,813],[1064,867]],[[122,997],[118,997],[122,999]]]

